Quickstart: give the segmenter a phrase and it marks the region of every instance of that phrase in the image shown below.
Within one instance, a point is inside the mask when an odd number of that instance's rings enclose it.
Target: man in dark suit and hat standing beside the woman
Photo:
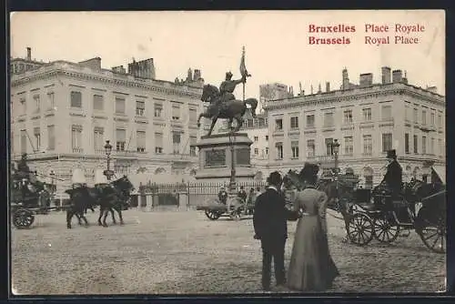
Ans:
[[[270,290],[272,258],[278,286],[286,284],[284,253],[288,238],[287,220],[297,220],[298,212],[286,208],[285,198],[278,192],[282,177],[278,171],[268,177],[268,189],[256,199],[253,224],[255,237],[262,248],[262,289]]]

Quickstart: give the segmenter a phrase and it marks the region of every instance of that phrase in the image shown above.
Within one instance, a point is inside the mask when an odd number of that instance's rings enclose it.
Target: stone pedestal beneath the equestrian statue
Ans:
[[[250,163],[250,146],[253,142],[247,133],[217,134],[201,137],[199,148],[199,169],[196,179],[201,182],[228,183],[231,177],[232,148],[236,167],[236,182],[251,181],[256,170]]]

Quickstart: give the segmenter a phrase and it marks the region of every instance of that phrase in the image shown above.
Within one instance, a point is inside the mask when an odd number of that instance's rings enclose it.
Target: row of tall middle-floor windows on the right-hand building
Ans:
[[[373,139],[371,135],[364,135],[363,136],[363,153],[364,157],[371,157],[373,154]],[[391,133],[383,133],[382,134],[382,152],[387,152],[393,148],[393,140]],[[435,145],[436,145],[436,138],[430,138],[430,150],[427,151],[427,137],[422,137],[422,150],[421,154],[435,154]],[[326,147],[325,155],[326,156],[333,156],[333,138],[325,138],[324,140],[324,147]],[[283,143],[277,142],[276,145],[276,157],[278,159],[283,159]],[[438,139],[438,147],[440,151],[440,155],[444,155],[444,146],[442,139]],[[290,151],[291,151],[291,158],[298,158],[299,157],[299,143],[298,140],[293,140],[290,142]],[[353,137],[344,137],[343,142],[340,145],[339,150],[343,155],[352,156],[354,154],[354,140]],[[405,152],[410,153],[410,135],[405,134]],[[414,136],[414,153],[418,154],[418,137]],[[315,139],[308,139],[307,140],[307,157],[316,157],[316,141]]]

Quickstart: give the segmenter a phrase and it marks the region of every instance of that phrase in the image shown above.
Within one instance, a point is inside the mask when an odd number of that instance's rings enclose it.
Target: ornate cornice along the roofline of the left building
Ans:
[[[35,73],[34,75],[31,76],[24,76],[19,79],[15,79],[11,81],[11,86],[21,86],[24,85],[28,82],[40,80],[40,79],[48,79],[53,76],[66,76],[69,78],[76,78],[76,79],[81,79],[81,80],[88,80],[88,81],[98,81],[102,82],[108,85],[114,85],[114,86],[126,86],[126,87],[135,87],[135,88],[140,88],[140,89],[145,89],[148,91],[152,92],[157,92],[161,93],[163,95],[175,95],[175,96],[187,96],[195,99],[199,99],[201,94],[196,94],[194,92],[189,92],[189,91],[184,91],[182,89],[177,89],[173,87],[165,87],[163,86],[158,86],[158,85],[151,85],[147,83],[142,83],[137,80],[131,80],[131,79],[119,79],[115,77],[109,77],[109,76],[102,76],[102,75],[96,75],[96,74],[87,74],[83,72],[77,72],[77,71],[66,71],[64,69],[56,68],[53,70],[45,71],[42,73]],[[170,86],[173,86],[172,84],[169,83]]]

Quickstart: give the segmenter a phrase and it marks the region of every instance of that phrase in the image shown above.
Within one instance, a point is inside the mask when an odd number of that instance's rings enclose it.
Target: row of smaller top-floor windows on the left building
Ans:
[[[40,95],[36,94],[33,96],[34,100],[34,113],[38,113],[41,111],[41,99]],[[25,97],[22,97],[20,100],[20,104],[22,105],[22,113],[26,113],[26,101]],[[47,109],[55,108],[55,95],[54,92],[47,93]],[[73,108],[82,108],[82,94],[81,92],[72,91],[70,93],[70,106]],[[125,115],[126,114],[126,99],[125,97],[116,96],[114,111],[116,114]],[[102,95],[94,95],[93,96],[93,109],[95,111],[104,111],[105,109],[105,99]],[[163,105],[161,103],[155,103],[153,109],[153,116],[154,117],[164,117],[163,116]],[[196,122],[197,121],[197,108],[196,107],[189,107],[189,121]],[[136,116],[145,117],[146,116],[146,102],[142,100],[136,100]],[[171,117],[173,120],[180,120],[181,115],[181,106],[175,104],[172,106],[172,113]]]

